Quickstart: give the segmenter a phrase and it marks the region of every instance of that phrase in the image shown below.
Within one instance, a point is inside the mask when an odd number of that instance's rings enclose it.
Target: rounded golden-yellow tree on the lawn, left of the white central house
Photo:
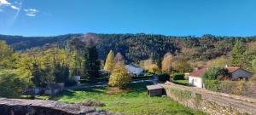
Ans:
[[[125,69],[125,65],[117,63],[110,75],[108,84],[113,87],[118,87],[119,89],[124,89],[129,82],[131,82],[131,76]]]

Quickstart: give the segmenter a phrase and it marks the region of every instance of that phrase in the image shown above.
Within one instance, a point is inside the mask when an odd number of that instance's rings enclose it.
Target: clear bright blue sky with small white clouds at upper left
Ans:
[[[0,0],[0,34],[256,35],[256,0]]]

